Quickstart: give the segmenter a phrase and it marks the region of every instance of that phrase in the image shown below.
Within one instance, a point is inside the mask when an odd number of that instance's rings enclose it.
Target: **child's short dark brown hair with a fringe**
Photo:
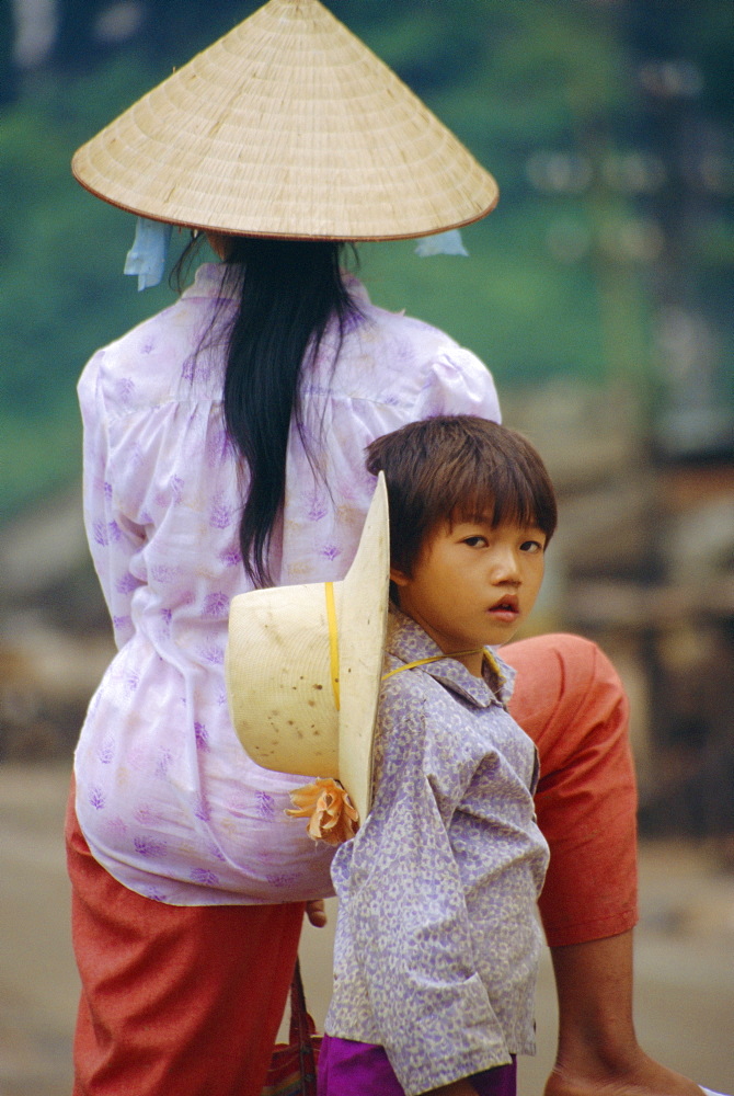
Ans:
[[[444,521],[491,517],[555,530],[555,492],[532,445],[474,415],[412,422],[367,447],[367,470],[385,472],[392,567],[412,574],[429,534]]]

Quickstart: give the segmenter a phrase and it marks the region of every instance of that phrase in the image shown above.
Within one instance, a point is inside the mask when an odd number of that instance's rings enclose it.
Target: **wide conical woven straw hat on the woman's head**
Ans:
[[[428,236],[498,196],[318,0],[269,0],[82,146],[72,171],[153,220],[295,239]]]

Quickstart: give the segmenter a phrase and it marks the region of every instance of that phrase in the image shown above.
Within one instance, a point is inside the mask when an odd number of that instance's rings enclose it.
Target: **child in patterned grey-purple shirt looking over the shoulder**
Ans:
[[[340,898],[319,1096],[511,1096],[532,1053],[548,846],[535,745],[492,648],[532,608],[555,528],[525,438],[461,415],[368,448],[385,472],[393,610],[372,807]]]

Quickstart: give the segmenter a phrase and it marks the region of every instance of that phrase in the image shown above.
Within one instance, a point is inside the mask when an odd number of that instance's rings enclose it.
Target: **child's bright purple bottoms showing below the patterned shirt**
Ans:
[[[478,1096],[517,1096],[517,1063],[468,1078]],[[325,1035],[319,1051],[318,1096],[405,1096],[382,1047]]]

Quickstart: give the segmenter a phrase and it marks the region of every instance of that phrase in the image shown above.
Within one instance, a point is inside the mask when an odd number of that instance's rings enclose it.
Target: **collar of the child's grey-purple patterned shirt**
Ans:
[[[489,708],[490,705],[497,703],[506,706],[513,694],[515,671],[498,658],[493,648],[486,648],[486,651],[494,662],[500,678],[496,692],[493,692],[490,685],[491,677],[486,664],[483,677],[475,677],[461,662],[448,657],[416,666],[415,670],[429,674],[441,685],[463,696],[479,708]],[[391,606],[387,653],[400,662],[408,663],[435,658],[441,654],[441,650],[415,620]],[[406,673],[412,672],[406,671]]]

